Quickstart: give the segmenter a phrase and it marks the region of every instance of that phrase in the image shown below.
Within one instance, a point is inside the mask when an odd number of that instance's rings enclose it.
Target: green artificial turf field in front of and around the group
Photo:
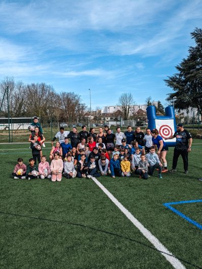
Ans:
[[[13,179],[28,147],[0,145],[1,268],[173,268],[92,179]],[[188,175],[179,158],[178,172],[163,179],[97,178],[186,268],[202,267],[202,230],[163,204],[202,199],[201,156],[202,142],[193,140]],[[169,169],[172,158],[170,148]],[[202,203],[173,207],[202,225]]]

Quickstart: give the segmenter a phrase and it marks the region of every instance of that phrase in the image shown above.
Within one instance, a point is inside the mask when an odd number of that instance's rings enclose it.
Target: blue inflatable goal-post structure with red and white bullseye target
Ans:
[[[157,129],[159,135],[162,137],[163,141],[169,147],[175,147],[176,138],[165,140],[170,136],[174,135],[176,131],[176,120],[174,107],[169,106],[165,108],[165,116],[156,116],[156,107],[147,107],[147,119],[148,128]]]

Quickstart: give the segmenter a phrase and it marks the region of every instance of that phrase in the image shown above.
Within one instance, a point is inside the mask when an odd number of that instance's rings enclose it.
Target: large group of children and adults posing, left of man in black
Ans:
[[[138,175],[148,179],[155,170],[158,171],[159,178],[162,178],[162,172],[167,172],[167,148],[161,144],[162,139],[154,143],[156,129],[153,130],[153,135],[150,129],[146,129],[145,135],[139,127],[135,132],[131,131],[131,126],[128,126],[125,133],[117,127],[116,134],[108,126],[105,126],[105,130],[99,127],[98,133],[95,133],[94,128],[87,132],[84,125],[80,132],[76,127],[72,131],[64,131],[60,127],[51,142],[50,164],[42,154],[45,138],[38,117],[33,119],[29,130],[32,158],[27,166],[22,158],[18,158],[12,173],[15,179],[48,178],[54,182],[61,181],[62,177],[92,178],[106,175],[113,178]],[[58,141],[54,146],[56,139]],[[158,151],[160,148],[160,153],[165,153],[164,158],[155,153],[155,145]]]

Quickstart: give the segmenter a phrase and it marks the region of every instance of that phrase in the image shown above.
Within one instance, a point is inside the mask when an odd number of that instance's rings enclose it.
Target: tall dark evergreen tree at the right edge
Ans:
[[[187,58],[183,58],[176,66],[177,74],[165,79],[165,84],[173,88],[174,93],[168,94],[167,101],[172,102],[178,109],[197,108],[202,110],[202,29],[195,28],[191,32],[195,46],[189,47]]]

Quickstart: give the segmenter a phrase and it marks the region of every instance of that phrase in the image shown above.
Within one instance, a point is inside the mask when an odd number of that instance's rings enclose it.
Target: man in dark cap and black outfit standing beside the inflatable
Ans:
[[[191,152],[192,137],[189,131],[184,129],[182,123],[177,124],[177,131],[173,136],[166,139],[176,138],[176,146],[173,154],[173,167],[170,173],[177,172],[178,158],[181,155],[184,163],[184,174],[188,174],[188,153]]]

